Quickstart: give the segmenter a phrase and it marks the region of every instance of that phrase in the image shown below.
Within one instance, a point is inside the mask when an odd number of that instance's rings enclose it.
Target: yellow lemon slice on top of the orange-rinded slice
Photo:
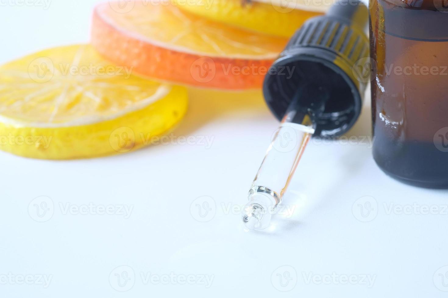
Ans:
[[[280,37],[291,37],[306,20],[326,10],[324,7],[306,5],[305,0],[303,3],[288,0],[172,1],[178,8],[197,16]]]

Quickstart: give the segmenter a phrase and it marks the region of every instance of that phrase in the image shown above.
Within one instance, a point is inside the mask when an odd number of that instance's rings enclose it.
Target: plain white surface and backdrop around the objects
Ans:
[[[2,63],[88,41],[93,0],[53,0],[47,10],[0,1]],[[368,101],[348,136],[370,137]],[[265,232],[244,229],[228,208],[246,204],[277,125],[260,94],[218,99],[192,91],[188,115],[172,133],[213,138],[210,148],[160,145],[59,162],[1,152],[0,297],[446,296],[447,191],[388,178],[366,143],[311,143],[284,197],[297,206],[293,216],[278,216]],[[33,219],[33,199],[40,196],[53,204],[46,222]],[[207,222],[196,205],[207,206],[202,196],[210,197]],[[89,203],[133,210],[129,218],[64,214],[66,206]],[[439,214],[390,211],[414,203]],[[124,270],[131,279],[120,288],[115,273]],[[148,274],[191,275],[197,282],[162,284],[146,281]],[[44,288],[5,280],[8,275],[52,279]],[[326,275],[355,284],[320,283]],[[211,285],[202,276],[213,278]],[[364,276],[375,278],[373,286]]]

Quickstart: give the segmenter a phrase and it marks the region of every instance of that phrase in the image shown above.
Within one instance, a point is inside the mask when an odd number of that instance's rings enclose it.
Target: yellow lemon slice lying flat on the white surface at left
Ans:
[[[126,152],[175,125],[187,90],[111,65],[90,45],[43,50],[0,67],[0,149],[41,159]]]

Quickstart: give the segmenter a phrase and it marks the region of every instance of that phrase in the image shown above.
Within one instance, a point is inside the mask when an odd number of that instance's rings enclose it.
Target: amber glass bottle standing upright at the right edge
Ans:
[[[370,52],[376,163],[403,182],[448,188],[448,6],[371,0]]]

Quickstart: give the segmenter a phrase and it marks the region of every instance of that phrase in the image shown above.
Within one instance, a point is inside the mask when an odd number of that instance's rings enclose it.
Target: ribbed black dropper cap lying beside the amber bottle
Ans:
[[[356,74],[357,64],[369,57],[367,24],[366,5],[339,0],[326,15],[297,30],[264,80],[264,97],[276,118],[281,120],[290,109],[315,112],[313,107],[325,101],[323,110],[313,113],[314,136],[339,136],[353,126],[368,81]],[[309,92],[310,86],[325,92]],[[316,97],[305,98],[310,94]]]

